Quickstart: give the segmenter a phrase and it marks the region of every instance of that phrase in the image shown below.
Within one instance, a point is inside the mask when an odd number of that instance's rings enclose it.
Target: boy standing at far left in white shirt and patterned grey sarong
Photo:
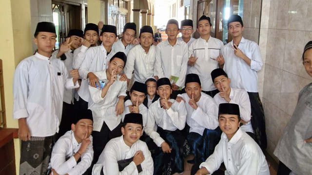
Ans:
[[[37,24],[36,54],[22,60],[13,80],[13,119],[19,120],[20,174],[45,174],[54,135],[59,131],[64,88],[78,88],[78,70],[69,73],[64,63],[51,57],[56,43],[51,22]],[[51,58],[50,58],[51,57]],[[44,151],[42,151],[44,150]]]

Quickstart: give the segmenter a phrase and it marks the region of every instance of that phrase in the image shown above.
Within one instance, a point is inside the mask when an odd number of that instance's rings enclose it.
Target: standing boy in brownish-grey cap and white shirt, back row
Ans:
[[[156,61],[155,74],[158,78],[177,78],[175,83],[172,83],[172,90],[176,91],[179,88],[184,88],[185,75],[187,70],[188,46],[184,41],[176,39],[179,33],[179,24],[176,19],[170,19],[167,23],[166,34],[168,39],[156,46]],[[179,92],[174,92],[174,98]]]

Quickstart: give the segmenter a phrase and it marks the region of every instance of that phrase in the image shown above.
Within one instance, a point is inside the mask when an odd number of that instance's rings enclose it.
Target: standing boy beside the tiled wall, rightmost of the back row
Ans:
[[[232,15],[228,20],[229,34],[233,40],[224,46],[224,70],[231,79],[232,88],[245,89],[249,95],[252,109],[252,125],[255,138],[262,149],[267,148],[265,117],[258,93],[257,71],[261,70],[262,59],[259,46],[245,39],[242,18]]]

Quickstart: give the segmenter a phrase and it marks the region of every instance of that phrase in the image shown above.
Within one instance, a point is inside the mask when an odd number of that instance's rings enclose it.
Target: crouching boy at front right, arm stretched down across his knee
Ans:
[[[213,174],[222,162],[226,168],[225,175],[270,175],[268,163],[260,147],[239,128],[239,106],[231,103],[220,104],[218,114],[223,132],[221,140],[216,145],[214,154],[199,167],[198,164],[192,167],[191,175]]]

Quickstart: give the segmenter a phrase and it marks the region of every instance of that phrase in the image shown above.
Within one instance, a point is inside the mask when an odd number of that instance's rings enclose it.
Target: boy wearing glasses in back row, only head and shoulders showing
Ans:
[[[196,39],[192,37],[193,34],[193,20],[191,19],[184,19],[181,20],[181,28],[180,28],[181,37],[178,37],[177,39],[180,41],[184,41],[188,46],[195,41]]]

